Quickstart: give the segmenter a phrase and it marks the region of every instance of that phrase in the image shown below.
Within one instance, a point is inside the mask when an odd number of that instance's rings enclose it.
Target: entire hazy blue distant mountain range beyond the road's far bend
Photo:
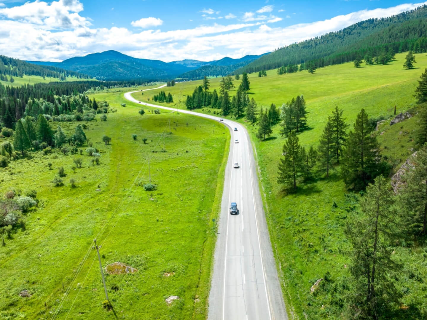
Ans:
[[[175,78],[200,79],[205,75],[226,76],[260,56],[246,55],[240,59],[225,57],[216,61],[181,60],[163,62],[160,60],[133,58],[129,55],[109,50],[92,53],[84,57],[70,58],[62,62],[27,62],[71,70],[87,74],[99,80],[142,79],[158,81]]]

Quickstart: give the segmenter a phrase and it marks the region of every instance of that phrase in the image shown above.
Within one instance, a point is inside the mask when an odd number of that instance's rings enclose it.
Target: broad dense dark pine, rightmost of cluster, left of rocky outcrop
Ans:
[[[365,109],[360,110],[350,131],[347,148],[343,154],[342,176],[345,185],[357,190],[364,189],[377,175],[379,169],[379,145],[371,136],[371,126]]]

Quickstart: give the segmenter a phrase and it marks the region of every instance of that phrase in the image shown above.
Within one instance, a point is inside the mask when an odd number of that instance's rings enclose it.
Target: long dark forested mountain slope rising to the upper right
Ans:
[[[257,72],[260,70],[269,70],[282,66],[300,64],[307,61],[321,59],[330,55],[336,55],[339,52],[346,52],[348,50],[361,49],[367,44],[373,45],[372,41],[365,40],[376,38],[373,35],[391,30],[396,26],[407,21],[417,21],[417,23],[425,23],[427,18],[427,6],[421,6],[417,9],[402,12],[401,14],[394,15],[388,18],[381,19],[368,19],[342,30],[330,32],[328,34],[312,38],[310,40],[302,41],[296,44],[291,44],[287,47],[277,49],[268,55],[264,55],[259,59],[252,61],[244,67],[234,71],[234,74],[243,72]],[[396,35],[396,34],[395,34]],[[397,35],[396,35],[397,36]],[[418,34],[418,37],[423,35]],[[424,34],[425,36],[425,34]],[[408,39],[409,34],[403,32],[399,35],[400,39]],[[387,38],[390,43],[395,42],[392,37]],[[377,41],[380,45],[379,41]],[[382,43],[383,44],[383,43]]]

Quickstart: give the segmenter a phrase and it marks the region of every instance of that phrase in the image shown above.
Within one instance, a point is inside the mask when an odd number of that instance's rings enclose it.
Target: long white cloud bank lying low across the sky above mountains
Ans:
[[[427,3],[427,2],[426,2]],[[313,23],[300,23],[287,27],[272,27],[266,16],[250,22],[197,26],[190,29],[130,30],[111,26],[94,28],[89,18],[79,15],[79,1],[54,1],[50,4],[36,1],[0,9],[0,48],[2,54],[24,60],[62,61],[76,55],[115,49],[137,58],[173,61],[197,59],[217,60],[224,56],[240,58],[247,54],[261,54],[274,48],[336,31],[372,17],[389,17],[414,9],[423,3],[403,4],[386,9],[361,10]],[[32,5],[33,7],[29,7]],[[58,22],[56,11],[76,26]],[[38,9],[41,9],[39,12]],[[81,10],[80,10],[81,9]],[[79,11],[73,11],[79,10]],[[155,18],[153,18],[155,19]],[[224,20],[227,21],[227,20]],[[272,23],[272,22],[270,22]]]

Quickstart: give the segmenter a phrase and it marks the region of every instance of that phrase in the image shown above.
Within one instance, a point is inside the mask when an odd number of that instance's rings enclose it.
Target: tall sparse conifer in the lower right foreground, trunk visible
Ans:
[[[352,244],[351,275],[356,285],[351,308],[361,319],[377,318],[378,309],[398,300],[398,264],[392,259],[395,227],[390,183],[378,176],[360,200],[363,215],[347,227]]]

